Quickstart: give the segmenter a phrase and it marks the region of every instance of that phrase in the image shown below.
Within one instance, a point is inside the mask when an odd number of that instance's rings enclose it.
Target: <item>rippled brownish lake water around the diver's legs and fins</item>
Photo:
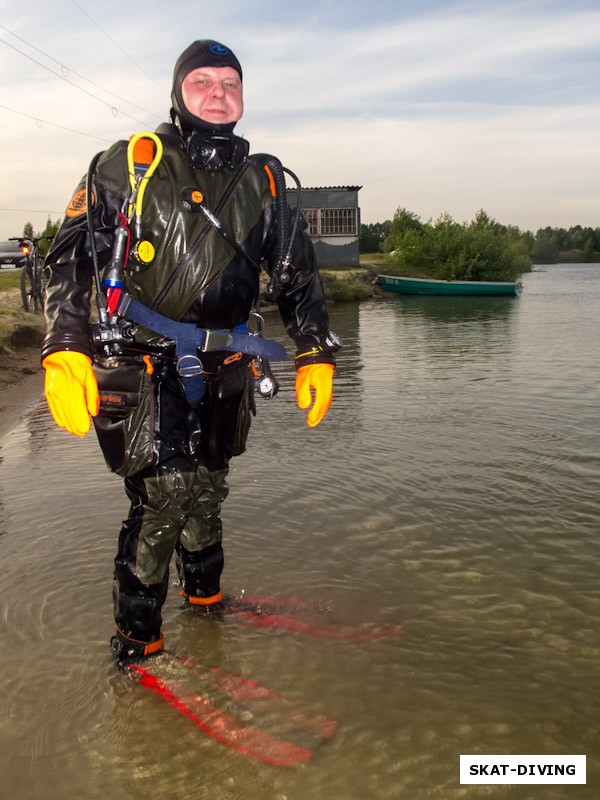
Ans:
[[[314,430],[277,367],[280,394],[259,399],[230,476],[224,587],[404,635],[215,621],[183,610],[175,583],[164,632],[337,720],[288,769],[224,748],[116,672],[120,481],[93,436],[58,430],[42,398],[25,409],[0,440],[2,796],[597,797],[599,301],[600,266],[558,265],[516,299],[334,307],[345,347]],[[587,754],[587,786],[460,786],[461,753]]]

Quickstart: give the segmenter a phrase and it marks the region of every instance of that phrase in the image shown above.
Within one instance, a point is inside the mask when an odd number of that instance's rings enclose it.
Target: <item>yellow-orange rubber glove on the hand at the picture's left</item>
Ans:
[[[42,361],[46,370],[46,400],[54,421],[75,436],[90,429],[90,414],[100,407],[92,360],[74,350],[52,353]]]

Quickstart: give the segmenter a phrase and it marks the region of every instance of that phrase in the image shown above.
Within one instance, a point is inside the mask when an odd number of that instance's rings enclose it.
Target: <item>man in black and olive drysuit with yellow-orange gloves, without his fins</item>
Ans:
[[[297,400],[311,427],[329,408],[339,347],[310,239],[293,228],[291,214],[278,227],[285,198],[274,197],[276,164],[249,157],[247,142],[233,134],[243,113],[235,55],[218,42],[194,42],[175,65],[171,101],[171,123],[159,127],[158,142],[150,136],[133,155],[131,142],[117,142],[99,155],[46,260],[42,364],[50,411],[77,436],[93,417],[106,462],[131,501],[115,558],[111,647],[119,659],[162,648],[174,551],[187,601],[222,601],[228,465],[245,449],[254,412],[254,355],[258,363],[269,356],[260,350],[268,340],[245,328],[259,294],[257,265],[271,275],[296,344]],[[134,180],[136,170],[143,181]],[[112,324],[90,324],[94,278],[113,275],[119,259],[124,285],[108,281],[105,317],[100,310],[100,322]],[[119,305],[123,293],[142,309],[133,322]],[[172,330],[171,321],[193,325]],[[205,345],[193,352],[190,329]],[[235,334],[233,345],[215,331]]]

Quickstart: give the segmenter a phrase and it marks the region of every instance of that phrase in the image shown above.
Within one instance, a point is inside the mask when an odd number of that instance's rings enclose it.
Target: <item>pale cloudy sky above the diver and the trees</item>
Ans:
[[[599,0],[0,0],[0,239],[61,217],[93,155],[165,120],[175,60],[244,69],[237,132],[363,222],[478,209],[600,225]]]

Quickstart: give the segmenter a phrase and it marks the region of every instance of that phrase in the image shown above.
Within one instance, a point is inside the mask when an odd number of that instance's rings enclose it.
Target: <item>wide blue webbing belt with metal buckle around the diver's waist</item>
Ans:
[[[213,350],[229,350],[234,353],[260,356],[269,361],[285,361],[287,358],[282,344],[251,334],[246,325],[231,330],[209,330],[199,328],[192,322],[176,322],[134,300],[125,292],[121,293],[116,311],[120,316],[175,342],[177,371],[183,381],[185,396],[190,403],[197,402],[204,396],[203,367],[198,351],[206,353]]]

